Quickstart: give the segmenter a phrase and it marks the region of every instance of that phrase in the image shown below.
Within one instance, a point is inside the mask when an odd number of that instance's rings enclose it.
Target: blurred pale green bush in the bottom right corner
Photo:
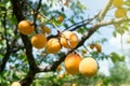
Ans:
[[[127,68],[125,62],[116,62],[113,68],[109,69],[110,83],[114,85],[130,83],[128,80],[130,70]]]

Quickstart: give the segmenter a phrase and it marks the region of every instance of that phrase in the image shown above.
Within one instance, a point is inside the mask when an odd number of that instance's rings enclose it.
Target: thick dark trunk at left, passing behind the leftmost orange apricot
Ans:
[[[18,22],[25,19],[25,16],[23,15],[22,4],[17,0],[11,0],[11,3],[13,5],[13,13],[16,16],[16,19]],[[29,86],[32,83],[32,78],[35,77],[35,74],[38,71],[35,58],[32,56],[32,46],[30,43],[30,40],[27,35],[24,35],[21,33],[25,49],[26,49],[26,56],[29,63],[29,72],[26,75],[24,80],[21,81],[22,86]]]

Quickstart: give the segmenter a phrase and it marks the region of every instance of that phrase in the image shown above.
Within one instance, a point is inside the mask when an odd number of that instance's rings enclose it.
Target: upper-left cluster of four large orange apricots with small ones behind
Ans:
[[[63,16],[58,16],[57,20],[63,22]],[[17,25],[21,33],[27,35],[35,31],[35,26],[29,20],[22,20]],[[78,37],[73,31],[64,31],[60,33],[60,37],[47,40],[46,34],[51,32],[48,26],[40,27],[40,33],[35,33],[31,39],[31,45],[38,49],[46,48],[49,54],[56,54],[61,51],[62,46],[66,48],[75,48],[78,44]]]

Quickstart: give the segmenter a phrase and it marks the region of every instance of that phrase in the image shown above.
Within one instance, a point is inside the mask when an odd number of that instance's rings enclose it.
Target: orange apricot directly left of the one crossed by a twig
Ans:
[[[46,45],[46,51],[47,53],[50,54],[56,54],[57,52],[61,51],[61,44],[58,39],[52,38],[48,41],[47,45]]]

